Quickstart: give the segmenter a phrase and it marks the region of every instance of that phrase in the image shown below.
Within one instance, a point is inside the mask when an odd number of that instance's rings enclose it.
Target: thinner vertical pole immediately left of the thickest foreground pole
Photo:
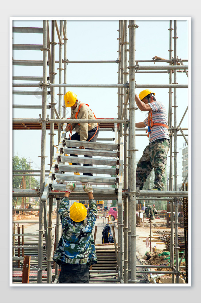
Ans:
[[[128,82],[128,20],[124,20],[124,83]],[[125,105],[128,90],[124,89],[124,119],[127,120],[127,105]],[[128,188],[128,125],[124,124],[124,188]],[[124,283],[128,283],[128,196],[124,198]]]

